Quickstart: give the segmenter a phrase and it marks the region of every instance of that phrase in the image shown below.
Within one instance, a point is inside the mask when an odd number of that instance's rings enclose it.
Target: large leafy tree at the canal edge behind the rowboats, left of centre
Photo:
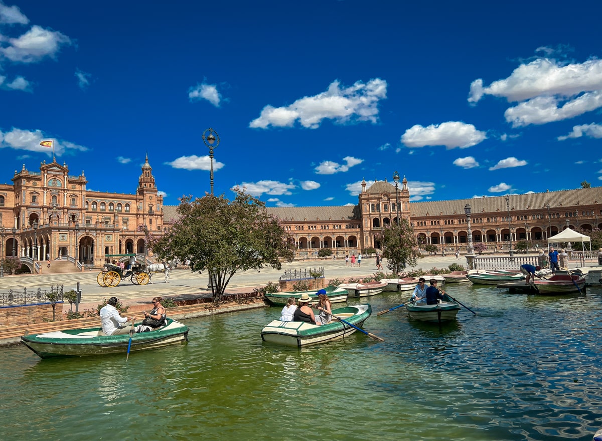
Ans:
[[[172,230],[161,237],[147,234],[159,259],[190,259],[191,271],[208,272],[215,303],[237,271],[265,265],[280,270],[282,261],[293,259],[294,242],[265,204],[238,187],[234,192],[232,201],[223,195],[182,197]]]

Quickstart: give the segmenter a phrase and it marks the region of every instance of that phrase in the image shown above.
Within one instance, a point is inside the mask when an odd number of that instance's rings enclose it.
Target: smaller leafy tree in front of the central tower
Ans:
[[[420,253],[415,248],[414,229],[407,219],[399,225],[390,225],[382,229],[379,235],[382,244],[382,255],[387,259],[387,267],[396,274],[401,273],[406,265],[414,267],[418,263]]]

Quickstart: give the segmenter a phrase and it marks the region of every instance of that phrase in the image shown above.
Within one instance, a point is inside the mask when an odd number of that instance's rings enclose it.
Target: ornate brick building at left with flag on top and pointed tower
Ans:
[[[101,267],[105,254],[146,254],[144,230],[163,232],[163,196],[148,156],[135,194],[87,190],[84,172],[73,176],[56,159],[40,171],[23,164],[11,180],[0,184],[0,256],[17,256],[32,271],[40,261]]]

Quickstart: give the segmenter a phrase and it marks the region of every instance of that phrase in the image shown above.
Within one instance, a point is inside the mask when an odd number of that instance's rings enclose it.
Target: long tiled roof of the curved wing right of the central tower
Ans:
[[[479,213],[507,212],[506,195],[479,197],[473,199],[441,200],[431,202],[411,202],[412,217],[464,214],[464,206],[469,203],[473,215]],[[547,212],[558,211],[563,207],[575,205],[592,205],[602,203],[602,187],[577,188],[575,190],[549,191],[545,193],[527,193],[510,195],[510,212],[520,210],[541,209]]]

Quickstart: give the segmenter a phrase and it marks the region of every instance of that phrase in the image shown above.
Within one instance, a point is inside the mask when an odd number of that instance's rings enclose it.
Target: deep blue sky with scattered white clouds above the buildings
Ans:
[[[164,203],[347,205],[602,180],[602,2],[0,0],[0,182],[52,159]],[[412,2],[418,3],[418,2]]]

